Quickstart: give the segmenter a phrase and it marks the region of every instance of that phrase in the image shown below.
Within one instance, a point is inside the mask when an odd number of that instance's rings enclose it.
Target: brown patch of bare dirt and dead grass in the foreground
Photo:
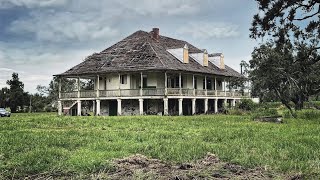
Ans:
[[[105,174],[108,179],[274,179],[278,175],[261,168],[246,169],[226,163],[214,154],[207,154],[194,163],[170,165],[158,159],[137,154],[114,161],[116,170]],[[100,174],[101,175],[101,174]],[[102,176],[100,176],[101,178]]]

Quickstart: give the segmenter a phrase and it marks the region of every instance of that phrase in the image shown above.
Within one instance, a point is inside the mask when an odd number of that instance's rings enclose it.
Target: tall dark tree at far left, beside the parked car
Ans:
[[[13,73],[12,79],[7,81],[7,85],[10,87],[9,107],[11,112],[16,112],[18,106],[22,108],[25,104],[24,84],[19,80],[18,73]]]

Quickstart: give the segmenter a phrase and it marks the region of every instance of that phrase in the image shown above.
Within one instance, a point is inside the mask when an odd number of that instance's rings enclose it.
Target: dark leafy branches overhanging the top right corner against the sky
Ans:
[[[272,37],[277,44],[308,42],[320,49],[319,0],[256,0],[259,12],[254,15],[250,37]]]

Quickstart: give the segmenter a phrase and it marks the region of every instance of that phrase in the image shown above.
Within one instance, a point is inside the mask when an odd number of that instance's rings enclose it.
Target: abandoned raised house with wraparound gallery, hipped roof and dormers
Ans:
[[[90,102],[95,115],[193,115],[217,113],[248,97],[228,87],[242,75],[225,65],[222,53],[151,32],[137,31],[55,75],[59,82],[58,114],[81,115]],[[76,79],[75,91],[62,91],[61,79]],[[81,89],[81,79],[94,82]]]

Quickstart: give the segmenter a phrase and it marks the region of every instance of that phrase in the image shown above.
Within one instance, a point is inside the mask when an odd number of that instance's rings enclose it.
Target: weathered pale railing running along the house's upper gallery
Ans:
[[[141,96],[164,96],[165,88],[148,88],[148,89],[113,89],[99,90],[99,97],[137,97]],[[72,92],[61,92],[61,99],[69,98],[96,98],[97,90],[81,90]],[[205,89],[180,89],[167,88],[168,96],[209,96],[209,97],[249,97],[249,93],[241,93],[238,91],[221,91],[221,90],[205,90]]]

